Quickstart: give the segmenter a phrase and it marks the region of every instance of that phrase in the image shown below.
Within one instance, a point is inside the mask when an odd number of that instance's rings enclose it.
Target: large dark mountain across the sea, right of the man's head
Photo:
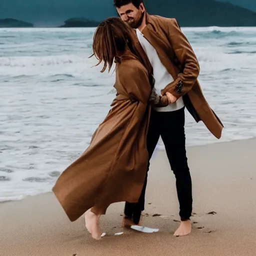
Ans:
[[[180,26],[256,26],[256,12],[215,0],[151,0],[146,7],[177,18]]]

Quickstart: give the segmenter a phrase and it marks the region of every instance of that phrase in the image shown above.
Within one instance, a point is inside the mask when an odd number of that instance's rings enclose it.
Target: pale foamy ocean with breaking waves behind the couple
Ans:
[[[110,109],[114,72],[88,58],[94,30],[0,28],[0,201],[50,191]],[[186,111],[187,146],[255,137],[256,27],[182,31],[225,126],[218,140]]]

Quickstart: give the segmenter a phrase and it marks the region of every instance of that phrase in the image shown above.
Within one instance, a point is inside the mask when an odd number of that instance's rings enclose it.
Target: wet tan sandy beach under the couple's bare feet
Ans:
[[[116,203],[101,218],[106,236],[95,241],[84,229],[83,217],[71,223],[54,195],[46,193],[0,204],[0,255],[254,256],[255,152],[256,139],[187,149],[193,182],[193,228],[188,236],[173,236],[179,224],[175,179],[165,152],[157,151],[142,223],[159,232],[123,230],[123,203]]]

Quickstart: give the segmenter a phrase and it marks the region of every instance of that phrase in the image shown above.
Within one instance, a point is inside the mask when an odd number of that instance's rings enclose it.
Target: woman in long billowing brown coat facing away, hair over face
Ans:
[[[99,24],[92,49],[98,64],[103,63],[101,72],[116,63],[116,97],[88,148],[63,171],[52,190],[71,221],[86,211],[86,228],[100,239],[100,215],[113,202],[137,202],[142,190],[153,79],[133,30],[117,17]]]

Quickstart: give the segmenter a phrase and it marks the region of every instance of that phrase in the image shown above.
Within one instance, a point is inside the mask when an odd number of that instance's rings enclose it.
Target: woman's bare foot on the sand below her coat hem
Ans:
[[[99,230],[99,217],[100,215],[96,215],[88,209],[85,214],[85,227],[88,232],[91,234],[92,238],[99,240],[101,238],[101,233]]]

